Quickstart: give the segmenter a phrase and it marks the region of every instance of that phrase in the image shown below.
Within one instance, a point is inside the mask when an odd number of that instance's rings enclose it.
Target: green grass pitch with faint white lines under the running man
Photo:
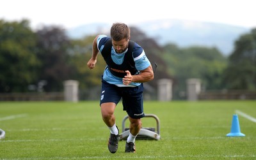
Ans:
[[[98,101],[2,101],[0,128],[6,136],[0,140],[0,159],[256,159],[256,101],[145,101],[144,105],[145,113],[160,119],[161,140],[137,140],[135,154],[125,153],[121,141],[111,154]],[[227,137],[236,110],[251,117],[238,114],[246,136]],[[121,105],[115,114],[121,130],[126,115]],[[155,126],[156,120],[143,119],[143,127]]]

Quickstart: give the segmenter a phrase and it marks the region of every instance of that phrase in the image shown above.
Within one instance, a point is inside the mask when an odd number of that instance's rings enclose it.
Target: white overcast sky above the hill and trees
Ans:
[[[182,19],[256,27],[255,0],[0,0],[0,19],[28,18],[31,27],[94,22],[136,24]]]

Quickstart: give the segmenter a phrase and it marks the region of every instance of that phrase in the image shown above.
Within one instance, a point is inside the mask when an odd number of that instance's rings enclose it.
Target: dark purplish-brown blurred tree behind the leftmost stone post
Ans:
[[[65,29],[58,26],[44,26],[36,31],[38,57],[42,61],[39,82],[45,82],[44,91],[63,91],[63,81],[72,78],[68,66],[70,41]]]

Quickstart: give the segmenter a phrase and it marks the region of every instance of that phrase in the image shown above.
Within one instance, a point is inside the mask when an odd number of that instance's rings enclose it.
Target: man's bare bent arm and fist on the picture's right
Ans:
[[[154,72],[151,64],[148,68],[140,71],[139,75],[131,75],[129,71],[125,71],[125,73],[127,73],[127,75],[123,78],[124,85],[129,85],[131,82],[143,83],[154,79]]]

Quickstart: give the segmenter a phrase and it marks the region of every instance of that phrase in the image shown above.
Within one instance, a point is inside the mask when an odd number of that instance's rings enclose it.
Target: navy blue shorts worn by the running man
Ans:
[[[123,109],[132,119],[140,119],[145,116],[143,112],[143,84],[137,87],[117,87],[102,80],[100,105],[113,102],[116,105],[122,98]]]

